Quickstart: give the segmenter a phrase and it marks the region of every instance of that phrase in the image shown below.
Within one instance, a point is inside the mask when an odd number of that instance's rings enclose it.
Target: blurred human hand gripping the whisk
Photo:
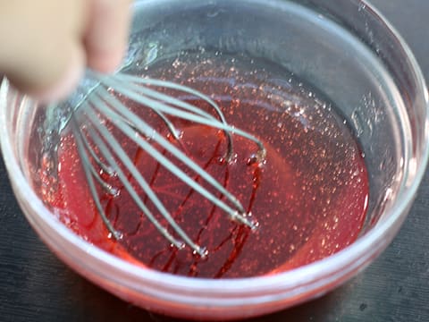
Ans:
[[[87,66],[113,72],[127,45],[130,2],[0,0],[0,73],[50,101],[69,94]]]

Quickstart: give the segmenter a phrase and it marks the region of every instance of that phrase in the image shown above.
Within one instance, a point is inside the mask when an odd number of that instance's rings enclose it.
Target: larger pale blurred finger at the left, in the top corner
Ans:
[[[86,64],[80,40],[84,2],[2,2],[0,71],[16,88],[53,100],[76,86]]]

